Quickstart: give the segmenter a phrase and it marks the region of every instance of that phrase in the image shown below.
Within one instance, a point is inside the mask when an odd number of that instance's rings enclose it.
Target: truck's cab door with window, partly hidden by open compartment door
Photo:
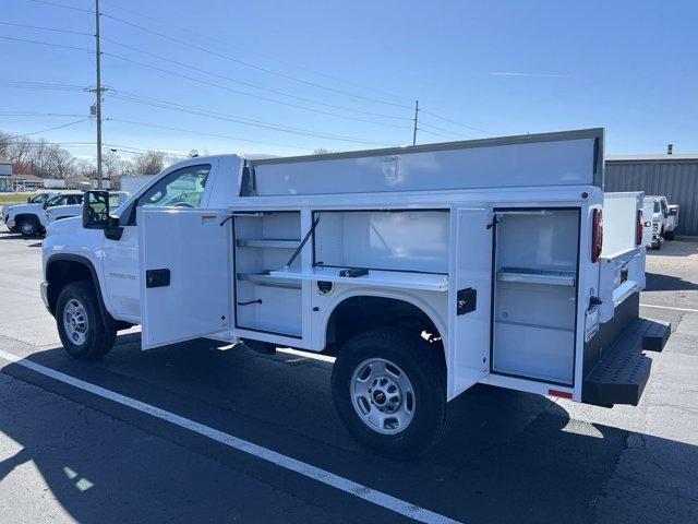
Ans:
[[[215,160],[192,160],[159,177],[123,211],[119,218],[121,238],[104,240],[104,282],[113,315],[134,323],[141,321],[137,209],[200,209],[207,200],[207,181],[215,168]]]

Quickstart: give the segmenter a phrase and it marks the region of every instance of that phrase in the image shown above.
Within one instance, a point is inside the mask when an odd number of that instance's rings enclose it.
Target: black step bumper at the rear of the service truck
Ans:
[[[585,377],[581,401],[606,407],[615,404],[637,406],[652,365],[642,350],[661,352],[670,333],[667,322],[650,319],[633,322]]]

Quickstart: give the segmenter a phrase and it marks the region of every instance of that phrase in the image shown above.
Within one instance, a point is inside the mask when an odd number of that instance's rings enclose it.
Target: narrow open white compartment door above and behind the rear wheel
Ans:
[[[490,369],[493,218],[490,206],[450,211],[449,398]]]

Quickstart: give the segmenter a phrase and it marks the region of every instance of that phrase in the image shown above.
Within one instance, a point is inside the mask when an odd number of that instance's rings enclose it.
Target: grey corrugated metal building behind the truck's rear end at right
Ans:
[[[678,234],[698,235],[698,154],[609,156],[604,191],[645,191],[678,204]]]

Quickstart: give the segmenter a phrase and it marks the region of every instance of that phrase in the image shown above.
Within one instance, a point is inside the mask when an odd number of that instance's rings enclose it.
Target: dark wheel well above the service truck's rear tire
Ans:
[[[336,353],[353,336],[377,327],[398,327],[421,336],[445,358],[441,333],[424,311],[406,300],[373,296],[350,297],[335,307],[327,321],[326,350]]]

